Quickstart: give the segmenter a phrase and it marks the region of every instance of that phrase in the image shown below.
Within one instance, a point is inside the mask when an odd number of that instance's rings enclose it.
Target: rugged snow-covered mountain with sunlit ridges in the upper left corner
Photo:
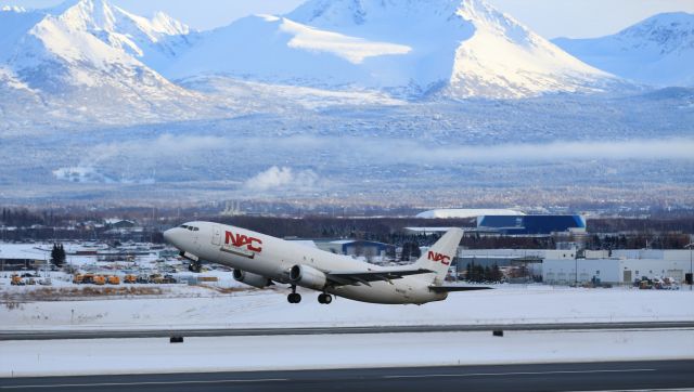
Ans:
[[[41,11],[0,11],[0,92],[35,96],[51,116],[147,122],[189,118],[204,97],[145,65],[170,56],[170,37],[187,27],[163,15],[145,19],[102,0],[68,1]],[[182,38],[185,40],[187,38]],[[166,42],[164,44],[163,42]],[[7,110],[7,109],[3,109]],[[127,116],[124,116],[127,113]]]

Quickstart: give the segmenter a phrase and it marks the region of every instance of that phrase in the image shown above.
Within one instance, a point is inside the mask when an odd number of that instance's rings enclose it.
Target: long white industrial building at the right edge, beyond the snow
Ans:
[[[579,284],[600,280],[603,284],[629,285],[635,278],[665,278],[684,282],[691,269],[689,250],[628,249],[588,251],[584,259],[545,258],[542,280],[547,284]]]

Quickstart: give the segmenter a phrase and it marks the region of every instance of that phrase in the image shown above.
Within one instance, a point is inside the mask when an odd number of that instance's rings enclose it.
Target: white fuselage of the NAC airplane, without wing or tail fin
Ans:
[[[368,272],[385,267],[295,244],[241,227],[210,222],[190,222],[165,233],[167,241],[202,260],[261,275],[278,283],[291,284],[290,271],[307,265],[324,273]],[[385,304],[422,304],[445,300],[447,293],[429,290],[430,274],[404,276],[369,285],[327,285],[325,292],[357,301]]]

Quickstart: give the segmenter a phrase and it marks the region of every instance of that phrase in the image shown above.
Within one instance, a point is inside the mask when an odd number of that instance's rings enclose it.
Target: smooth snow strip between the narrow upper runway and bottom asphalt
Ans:
[[[0,352],[0,377],[683,360],[694,330],[3,341]]]

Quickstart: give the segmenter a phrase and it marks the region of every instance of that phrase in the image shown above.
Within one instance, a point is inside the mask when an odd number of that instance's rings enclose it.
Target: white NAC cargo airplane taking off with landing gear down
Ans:
[[[290,285],[290,303],[301,301],[297,287],[316,290],[322,304],[331,303],[335,296],[369,303],[421,305],[442,301],[451,291],[487,289],[444,284],[462,237],[461,228],[451,228],[414,263],[380,266],[213,222],[189,222],[164,233],[165,240],[188,260],[231,266],[234,279],[257,288]]]

